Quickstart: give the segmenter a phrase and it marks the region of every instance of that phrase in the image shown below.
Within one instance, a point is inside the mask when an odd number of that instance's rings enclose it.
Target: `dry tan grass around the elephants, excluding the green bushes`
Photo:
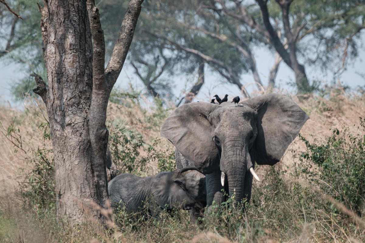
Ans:
[[[361,134],[357,130],[359,117],[365,114],[365,98],[348,95],[341,89],[332,90],[326,98],[318,96],[293,97],[293,99],[310,116],[301,129],[301,135],[309,141],[325,140],[331,136],[330,129],[348,127],[351,133]],[[140,101],[143,105],[131,101],[127,105],[110,103],[107,110],[108,126],[111,133],[115,124],[125,124],[128,128],[143,134],[148,143],[160,137],[159,118],[151,119],[155,112],[154,105],[147,99]],[[147,107],[147,109],[145,108]],[[20,209],[18,197],[12,197],[22,176],[31,168],[27,165],[27,157],[38,147],[51,148],[50,141],[44,141],[42,131],[38,128],[45,121],[38,103],[29,104],[23,111],[9,106],[0,106],[1,132],[0,140],[2,156],[0,157],[0,242],[364,242],[364,219],[352,219],[351,211],[331,197],[316,192],[316,188],[298,189],[298,183],[288,174],[276,174],[284,171],[284,166],[292,166],[297,158],[293,154],[304,152],[306,146],[298,138],[289,146],[282,161],[272,169],[270,166],[258,166],[258,174],[262,183],[254,184],[253,203],[245,213],[242,211],[224,212],[222,215],[208,215],[204,226],[197,227],[187,223],[187,212],[180,212],[176,217],[162,215],[160,219],[149,219],[146,222],[129,222],[127,217],[110,214],[110,209],[101,210],[109,219],[111,230],[107,231],[98,224],[89,222],[73,230],[55,221],[54,215],[42,218],[34,216],[32,209]],[[7,137],[7,128],[14,124],[20,130],[22,147],[16,148]],[[354,126],[355,125],[355,126]],[[166,149],[169,142],[162,139],[158,149]],[[14,153],[17,149],[18,152]],[[145,150],[141,149],[145,156]],[[155,162],[149,164],[153,174],[157,171]],[[24,168],[19,173],[19,168]],[[274,171],[274,172],[273,172]],[[277,180],[276,180],[277,179]],[[277,184],[273,195],[282,195],[283,200],[270,196],[268,187]],[[306,193],[301,195],[296,193]],[[321,207],[307,205],[308,197],[314,197]],[[308,199],[309,200],[309,199]],[[335,215],[325,210],[330,207],[327,201],[339,208],[343,215]],[[295,205],[300,203],[301,207]],[[336,204],[338,203],[338,204]],[[323,206],[323,205],[324,206]],[[348,211],[346,211],[348,210]],[[241,216],[238,216],[241,215]],[[360,223],[357,223],[360,222]],[[8,234],[5,238],[4,232]],[[3,234],[3,235],[1,235]]]

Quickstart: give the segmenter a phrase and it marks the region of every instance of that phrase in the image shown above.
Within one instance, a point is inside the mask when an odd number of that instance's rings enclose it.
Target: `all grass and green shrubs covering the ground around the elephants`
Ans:
[[[143,106],[148,100],[139,95],[116,97],[107,125],[119,172],[146,176],[174,169],[173,146],[158,132],[169,109]],[[187,211],[141,218],[101,209],[108,229],[92,219],[74,228],[56,220],[46,118],[37,105],[24,111],[1,107],[6,190],[0,196],[0,241],[364,242],[364,97],[335,89],[293,99],[311,119],[281,162],[257,166],[262,181],[254,182],[245,209],[228,199],[213,205],[200,225],[189,222]]]

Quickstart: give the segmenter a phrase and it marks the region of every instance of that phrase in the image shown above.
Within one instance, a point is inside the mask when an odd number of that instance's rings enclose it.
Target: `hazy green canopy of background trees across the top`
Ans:
[[[16,99],[33,95],[32,72],[45,75],[37,1],[8,1],[23,20],[0,7],[0,58],[18,63],[26,78],[12,85]],[[127,3],[96,1],[100,8],[108,60]],[[315,83],[306,70],[317,68],[339,77],[349,60],[356,60],[365,28],[363,1],[145,1],[126,66],[153,97],[190,102],[204,85],[204,70],[222,77],[248,96],[242,74],[251,74],[257,88],[278,85],[282,60],[293,70],[298,92],[311,92]],[[258,74],[255,48],[276,56],[268,80]],[[200,67],[200,68],[199,68]],[[198,77],[177,97],[181,77]],[[206,79],[206,78],[205,78]]]

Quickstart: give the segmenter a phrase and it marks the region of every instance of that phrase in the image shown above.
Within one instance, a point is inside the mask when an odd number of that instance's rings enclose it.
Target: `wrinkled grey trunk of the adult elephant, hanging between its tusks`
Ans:
[[[252,167],[248,147],[242,140],[227,141],[222,148],[220,164],[221,171],[227,176],[230,196],[235,193],[235,201],[241,202],[243,198],[249,196],[245,195],[247,192],[245,180],[248,179],[247,176],[251,176],[247,172]]]

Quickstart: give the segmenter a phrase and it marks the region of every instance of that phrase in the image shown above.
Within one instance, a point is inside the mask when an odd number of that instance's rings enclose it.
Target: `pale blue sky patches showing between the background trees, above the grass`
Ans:
[[[362,35],[362,38],[365,39],[365,34]],[[267,85],[269,70],[274,63],[274,56],[270,52],[265,49],[254,49],[255,58],[257,61],[257,67],[259,74],[261,76],[261,80],[264,85]],[[347,70],[343,72],[339,81],[343,82],[350,87],[357,87],[358,85],[364,86],[365,80],[356,72],[365,73],[365,48],[362,47],[360,50],[360,55],[356,59],[356,62],[352,62],[349,64]],[[240,95],[240,91],[237,86],[233,86],[228,83],[219,84],[220,80],[224,80],[218,74],[211,74],[208,68],[205,69],[205,84],[202,87],[200,93],[198,94],[196,101],[209,101],[210,97],[214,94],[222,95],[228,94],[228,98],[233,98],[236,95]],[[322,73],[320,70],[316,70],[314,67],[306,67],[306,73],[310,81],[317,79],[323,80],[324,82],[331,82],[333,76],[331,73]],[[17,82],[20,78],[24,77],[25,74],[21,71],[20,66],[11,65],[7,66],[4,62],[0,61],[0,100],[9,101],[13,105],[15,105],[14,101],[12,101],[12,97],[10,94],[10,87],[12,83]],[[191,83],[195,81],[196,77],[190,77],[189,80]],[[285,63],[280,64],[280,68],[278,71],[276,83],[280,86],[281,89],[286,89],[289,92],[293,92],[294,89],[290,87],[287,83],[294,81],[294,75],[290,68]],[[128,68],[128,65],[124,66],[117,82],[116,86],[127,89],[129,84],[132,83],[132,86],[136,87],[138,90],[145,89],[145,86],[139,81],[137,75],[134,74],[131,68]],[[174,94],[179,95],[181,90],[184,89],[184,85],[187,82],[187,77],[179,76],[176,78],[176,86],[174,88]],[[247,90],[257,90],[256,85],[253,83],[253,77],[251,74],[242,75],[241,82],[244,83],[247,87]],[[214,93],[214,94],[213,94]],[[210,94],[210,95],[209,95]],[[210,97],[209,97],[210,96]]]

